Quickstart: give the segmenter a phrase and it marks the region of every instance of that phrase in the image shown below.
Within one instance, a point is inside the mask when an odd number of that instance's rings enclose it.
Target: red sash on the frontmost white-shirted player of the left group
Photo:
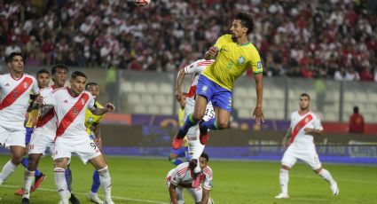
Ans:
[[[86,93],[83,93],[82,96],[77,100],[74,106],[69,109],[68,113],[64,115],[61,120],[58,129],[56,130],[56,137],[63,135],[68,126],[75,121],[77,115],[80,114],[82,109],[85,107],[86,102],[88,101],[89,96]],[[55,138],[56,138],[55,137]]]

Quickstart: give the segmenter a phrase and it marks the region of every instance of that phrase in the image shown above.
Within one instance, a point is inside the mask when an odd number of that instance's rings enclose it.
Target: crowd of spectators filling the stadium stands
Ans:
[[[0,58],[22,51],[27,66],[175,72],[229,32],[241,9],[255,17],[249,39],[264,75],[377,81],[377,18],[368,2],[0,0]]]

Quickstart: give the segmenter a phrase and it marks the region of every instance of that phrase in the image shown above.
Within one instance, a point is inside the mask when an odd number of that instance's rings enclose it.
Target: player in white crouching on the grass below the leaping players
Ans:
[[[212,188],[212,169],[208,167],[208,154],[201,153],[199,158],[200,165],[200,183],[194,184],[192,177],[193,169],[189,162],[181,163],[176,169],[171,169],[167,176],[169,187],[170,201],[173,204],[184,204],[184,189],[192,195],[195,203],[208,203],[209,191]]]

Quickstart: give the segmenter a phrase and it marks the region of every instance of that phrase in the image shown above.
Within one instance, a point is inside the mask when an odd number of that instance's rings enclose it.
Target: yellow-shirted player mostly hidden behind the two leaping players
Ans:
[[[177,99],[181,109],[178,113],[179,127],[182,127],[185,123],[185,105],[186,105],[186,93],[181,93],[181,97]],[[187,137],[185,137],[184,145],[177,150],[173,149],[169,155],[169,161],[178,166],[179,164],[185,162],[181,158],[186,158],[186,161],[190,161],[190,155],[188,153],[188,142]]]

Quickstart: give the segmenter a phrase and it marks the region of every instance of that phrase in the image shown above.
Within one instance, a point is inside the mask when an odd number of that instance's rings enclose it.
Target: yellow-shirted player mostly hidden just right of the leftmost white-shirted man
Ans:
[[[41,69],[36,73],[36,82],[38,83],[38,88],[41,90],[43,88],[46,88],[49,86],[50,83],[50,73],[45,70]],[[27,109],[27,122],[25,124],[25,127],[27,129],[27,134],[25,137],[25,145],[28,145],[30,143],[31,135],[35,129],[37,117],[39,114],[39,110],[29,110]],[[27,152],[26,152],[27,154]],[[22,158],[21,164],[24,166],[25,169],[27,169],[27,163],[28,163],[28,157]],[[35,183],[32,187],[32,191],[35,191],[43,182],[45,175],[39,171],[39,169],[35,169]],[[18,189],[15,194],[22,195],[23,190],[22,188]]]

